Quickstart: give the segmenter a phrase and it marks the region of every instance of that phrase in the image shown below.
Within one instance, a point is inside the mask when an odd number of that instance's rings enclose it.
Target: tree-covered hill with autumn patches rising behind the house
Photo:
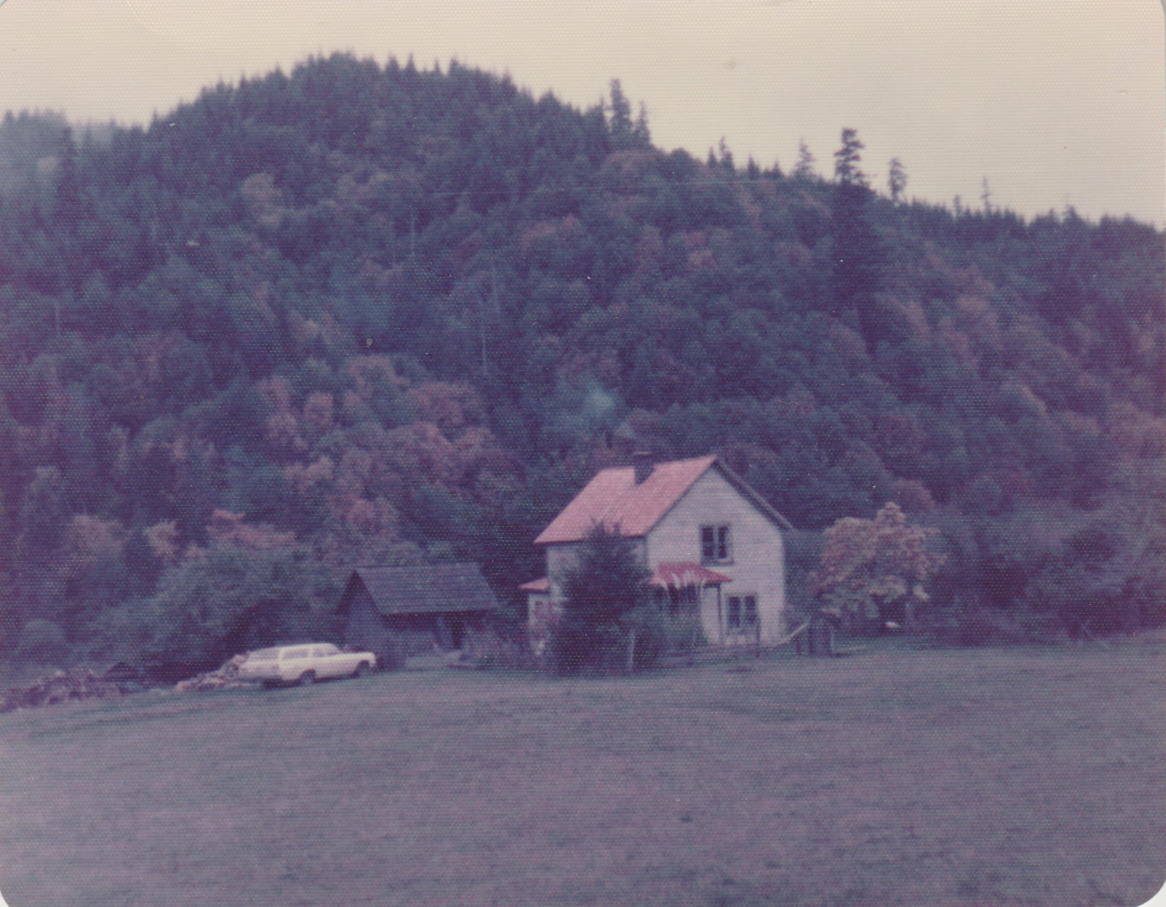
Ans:
[[[9,113],[0,652],[210,659],[360,562],[513,599],[633,447],[718,452],[805,530],[897,500],[943,529],[943,602],[1145,616],[1163,235],[892,198],[861,149],[698,161],[618,83],[578,111],[349,56],[148,128]]]

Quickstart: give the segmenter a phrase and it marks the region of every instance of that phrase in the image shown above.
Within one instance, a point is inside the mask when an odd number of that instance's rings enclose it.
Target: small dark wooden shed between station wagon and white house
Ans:
[[[338,613],[345,645],[391,663],[401,654],[461,649],[497,609],[477,564],[448,563],[354,568]]]

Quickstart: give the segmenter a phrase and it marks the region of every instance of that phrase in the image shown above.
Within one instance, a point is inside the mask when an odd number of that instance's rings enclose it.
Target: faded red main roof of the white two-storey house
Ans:
[[[656,463],[639,485],[633,466],[600,470],[534,543],[578,542],[597,525],[633,539],[647,535],[716,462],[708,456]]]

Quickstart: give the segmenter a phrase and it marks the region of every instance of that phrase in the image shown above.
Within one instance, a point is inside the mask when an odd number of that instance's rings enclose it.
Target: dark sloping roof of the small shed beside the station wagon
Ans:
[[[450,611],[493,611],[498,600],[477,564],[358,567],[349,575],[340,599],[347,611],[359,583],[377,611],[391,614],[437,614]]]

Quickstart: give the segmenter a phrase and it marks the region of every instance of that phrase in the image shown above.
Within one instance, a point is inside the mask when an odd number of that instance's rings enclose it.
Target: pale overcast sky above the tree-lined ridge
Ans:
[[[620,79],[652,140],[724,138],[833,174],[843,127],[886,191],[1033,216],[1166,219],[1160,0],[2,0],[0,111],[147,124],[218,80],[351,51],[510,73],[580,107]]]

